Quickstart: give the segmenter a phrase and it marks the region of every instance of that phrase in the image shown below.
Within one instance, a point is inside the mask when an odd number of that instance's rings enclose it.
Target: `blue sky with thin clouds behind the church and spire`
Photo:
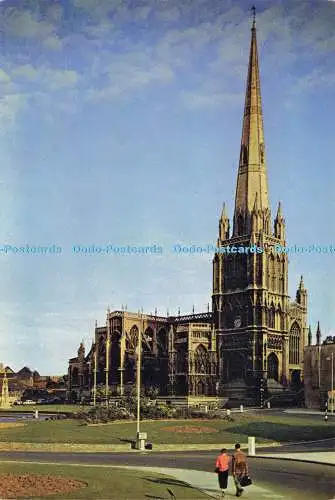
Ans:
[[[64,373],[106,308],[207,309],[214,243],[232,215],[250,43],[246,2],[0,3],[1,361]],[[272,213],[291,245],[335,244],[335,3],[258,2]],[[163,245],[78,256],[73,244]],[[334,259],[292,255],[309,321],[335,334]]]

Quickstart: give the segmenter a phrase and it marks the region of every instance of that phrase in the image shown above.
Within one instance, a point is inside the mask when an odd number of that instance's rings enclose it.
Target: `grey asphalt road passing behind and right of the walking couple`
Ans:
[[[292,445],[294,446],[294,445]],[[304,447],[305,445],[300,445]],[[329,447],[329,441],[319,444]],[[316,443],[314,443],[314,449]],[[312,450],[312,444],[308,445]],[[279,449],[276,448],[278,453]],[[286,453],[288,449],[285,449]],[[307,451],[307,444],[306,444]],[[110,464],[214,471],[213,452],[130,452],[130,453],[49,453],[0,452],[0,460],[76,464]],[[250,457],[250,475],[255,483],[283,495],[288,500],[330,500],[335,494],[335,467],[307,462]]]

